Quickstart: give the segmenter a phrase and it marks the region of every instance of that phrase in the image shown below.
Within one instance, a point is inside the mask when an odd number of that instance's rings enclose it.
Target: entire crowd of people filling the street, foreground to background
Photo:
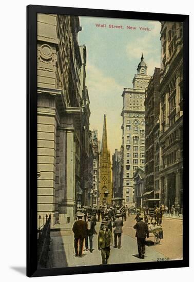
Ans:
[[[179,208],[172,206],[172,212],[179,215]],[[170,211],[171,211],[170,210]],[[93,235],[98,234],[98,249],[101,251],[102,264],[108,263],[110,255],[110,246],[112,245],[114,236],[114,248],[121,248],[122,227],[124,221],[127,220],[131,214],[136,214],[134,220],[137,223],[134,225],[136,230],[139,258],[144,258],[145,255],[145,239],[149,237],[148,225],[146,216],[154,220],[157,225],[162,224],[163,214],[168,212],[164,205],[160,207],[155,206],[152,209],[142,207],[141,209],[128,208],[127,206],[100,206],[97,207],[82,207],[77,209],[77,220],[73,225],[74,233],[74,249],[75,256],[82,256],[83,244],[85,240],[85,250],[93,251]],[[143,221],[144,219],[144,221]],[[96,232],[95,226],[97,222],[101,221],[99,233]],[[112,236],[113,232],[113,236]],[[79,247],[78,247],[79,245]]]

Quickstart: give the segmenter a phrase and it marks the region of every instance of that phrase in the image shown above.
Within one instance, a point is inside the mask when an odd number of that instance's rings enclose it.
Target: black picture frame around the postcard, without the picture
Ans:
[[[152,263],[115,264],[102,266],[37,269],[36,265],[36,197],[37,187],[37,117],[36,117],[36,15],[37,13],[68,14],[93,17],[147,19],[183,22],[184,36],[184,117],[183,117],[183,259]],[[52,276],[97,272],[179,268],[189,266],[189,16],[178,14],[68,8],[54,6],[27,6],[27,276]]]

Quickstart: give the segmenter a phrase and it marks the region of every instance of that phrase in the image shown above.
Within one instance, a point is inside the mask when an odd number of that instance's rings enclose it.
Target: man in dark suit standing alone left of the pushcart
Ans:
[[[136,229],[136,234],[135,237],[137,237],[137,242],[138,242],[138,253],[139,253],[139,258],[144,258],[145,254],[145,238],[147,235],[147,238],[149,238],[149,231],[147,224],[144,223],[143,217],[139,216],[139,221],[137,224],[133,226],[134,229]]]

